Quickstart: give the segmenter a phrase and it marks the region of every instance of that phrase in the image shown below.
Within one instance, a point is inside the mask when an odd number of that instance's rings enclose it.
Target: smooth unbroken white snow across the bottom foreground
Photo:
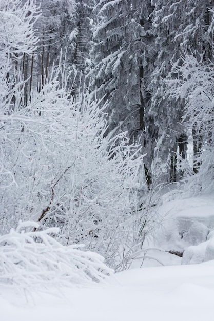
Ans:
[[[25,295],[0,287],[2,321],[213,319],[214,261],[120,272],[109,284]]]

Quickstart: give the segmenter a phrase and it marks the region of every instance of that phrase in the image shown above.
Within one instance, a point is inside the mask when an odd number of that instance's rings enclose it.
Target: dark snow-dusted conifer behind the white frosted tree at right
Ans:
[[[184,157],[187,139],[186,129],[181,124],[184,105],[182,101],[167,99],[163,79],[171,70],[171,61],[179,59],[183,48],[188,47],[192,51],[204,48],[206,57],[210,56],[206,31],[211,17],[208,8],[213,4],[212,1],[153,0],[152,5],[152,34],[157,54],[149,85],[152,96],[149,113],[158,127],[160,156],[167,160],[171,155],[171,180],[176,180],[177,147]]]

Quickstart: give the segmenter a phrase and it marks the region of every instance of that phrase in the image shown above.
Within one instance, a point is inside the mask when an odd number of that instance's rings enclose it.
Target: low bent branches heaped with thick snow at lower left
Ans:
[[[20,222],[0,237],[0,282],[31,287],[104,282],[113,270],[84,245],[63,246],[52,235],[57,228],[35,230],[35,222]]]

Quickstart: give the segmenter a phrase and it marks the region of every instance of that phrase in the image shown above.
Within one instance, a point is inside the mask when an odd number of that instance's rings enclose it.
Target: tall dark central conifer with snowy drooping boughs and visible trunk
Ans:
[[[91,50],[92,84],[108,102],[109,131],[127,130],[139,141],[147,153],[147,168],[151,163],[147,142],[155,135],[147,90],[151,12],[149,1],[98,1]]]

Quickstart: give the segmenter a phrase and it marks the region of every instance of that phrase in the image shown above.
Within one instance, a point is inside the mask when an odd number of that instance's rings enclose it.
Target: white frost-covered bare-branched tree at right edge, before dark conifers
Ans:
[[[181,166],[187,176],[197,174],[191,178],[196,192],[212,188],[214,175],[213,76],[213,63],[204,61],[204,51],[190,54],[186,50],[166,80],[168,98],[183,102],[182,123],[192,132],[193,168]]]

